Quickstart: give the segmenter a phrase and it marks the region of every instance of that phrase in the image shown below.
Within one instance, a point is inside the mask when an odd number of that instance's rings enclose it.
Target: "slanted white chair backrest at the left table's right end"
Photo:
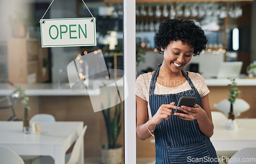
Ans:
[[[87,129],[87,125],[83,127],[81,133],[79,134],[79,136],[76,140],[76,143],[73,147],[70,159],[66,164],[74,164],[74,163],[78,162],[79,156],[80,156],[80,151],[81,151],[81,142],[82,142],[84,133],[86,132],[86,129]]]

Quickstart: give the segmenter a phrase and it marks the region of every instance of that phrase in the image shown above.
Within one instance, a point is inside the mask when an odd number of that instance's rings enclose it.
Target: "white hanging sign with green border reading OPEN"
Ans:
[[[96,45],[95,18],[40,19],[40,28],[42,48]]]

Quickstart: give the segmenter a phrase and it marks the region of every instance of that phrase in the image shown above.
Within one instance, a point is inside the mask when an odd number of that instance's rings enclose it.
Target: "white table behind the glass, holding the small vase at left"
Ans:
[[[49,155],[65,164],[65,154],[82,131],[83,122],[40,122],[40,132],[24,134],[23,123],[0,121],[0,145],[19,155]],[[84,163],[83,139],[78,164]]]

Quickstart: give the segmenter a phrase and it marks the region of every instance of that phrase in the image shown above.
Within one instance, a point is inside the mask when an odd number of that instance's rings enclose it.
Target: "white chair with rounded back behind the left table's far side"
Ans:
[[[51,114],[39,113],[39,114],[33,115],[29,122],[30,124],[32,122],[55,122],[55,118]],[[31,163],[32,159],[35,159],[39,156],[38,155],[20,155],[20,157],[22,157],[23,160],[28,160],[29,163]]]

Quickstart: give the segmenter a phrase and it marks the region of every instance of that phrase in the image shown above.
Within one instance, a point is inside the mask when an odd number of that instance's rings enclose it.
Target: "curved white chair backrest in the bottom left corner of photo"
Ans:
[[[23,159],[13,150],[0,146],[0,163],[5,164],[25,164]]]

